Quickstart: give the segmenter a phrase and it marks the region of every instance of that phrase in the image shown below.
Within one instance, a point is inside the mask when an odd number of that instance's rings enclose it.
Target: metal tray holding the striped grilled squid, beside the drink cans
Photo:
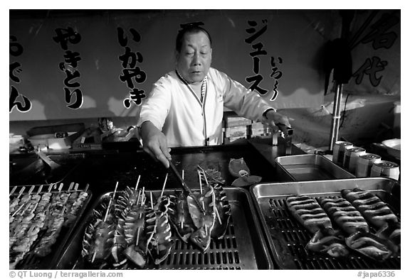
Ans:
[[[396,180],[386,177],[270,183],[251,187],[251,196],[256,203],[270,253],[279,268],[400,269],[400,256],[380,263],[359,256],[357,253],[351,253],[347,258],[332,258],[305,249],[312,235],[291,216],[286,208],[285,198],[289,195],[341,197],[341,190],[354,187],[372,191],[400,218],[400,185]],[[371,232],[374,231],[371,227]]]

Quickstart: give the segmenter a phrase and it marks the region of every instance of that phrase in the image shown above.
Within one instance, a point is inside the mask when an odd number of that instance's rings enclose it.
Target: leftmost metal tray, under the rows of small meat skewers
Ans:
[[[62,185],[63,184],[63,185]],[[61,186],[62,185],[62,186]],[[16,197],[19,195],[20,191],[23,190],[22,195],[25,193],[28,193],[28,191],[33,187],[32,193],[37,193],[38,190],[41,191],[39,192],[40,194],[46,193],[46,192],[68,192],[70,185],[66,183],[52,183],[50,185],[21,185],[21,186],[10,186],[10,192],[13,192],[10,197]],[[60,190],[58,190],[60,188]],[[64,188],[67,188],[64,190]],[[49,190],[50,189],[50,190]],[[74,192],[74,191],[84,191],[88,189],[88,186],[77,188],[77,190],[70,190],[69,192]],[[70,226],[65,226],[61,228],[60,234],[58,234],[56,244],[53,244],[51,253],[49,253],[47,256],[44,257],[39,257],[39,256],[33,256],[32,253],[28,252],[26,256],[17,264],[16,269],[53,269],[56,266],[56,261],[61,256],[61,253],[63,253],[63,248],[65,245],[68,243],[68,239],[70,238],[70,235],[73,233],[75,227],[79,224],[79,221],[81,217],[83,217],[83,214],[85,212],[85,208],[88,206],[88,203],[90,202],[90,199],[92,197],[92,193],[90,190],[86,190],[88,193],[87,199],[84,200],[83,206],[79,209],[78,214],[74,221],[70,223]],[[36,244],[36,241],[33,243],[33,245]]]

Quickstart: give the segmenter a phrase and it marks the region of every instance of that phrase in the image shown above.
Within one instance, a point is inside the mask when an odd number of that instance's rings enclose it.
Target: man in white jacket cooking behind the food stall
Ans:
[[[137,127],[143,150],[169,168],[169,147],[222,143],[224,106],[278,131],[290,127],[256,92],[211,67],[211,36],[198,24],[177,35],[177,69],[161,77],[144,100]],[[286,131],[283,131],[286,133]]]

